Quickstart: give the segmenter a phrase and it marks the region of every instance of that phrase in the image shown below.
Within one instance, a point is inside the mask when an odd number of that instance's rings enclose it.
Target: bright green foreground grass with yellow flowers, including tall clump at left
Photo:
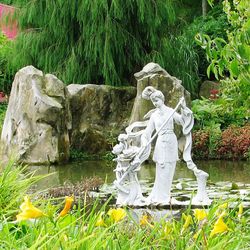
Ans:
[[[181,218],[154,221],[135,217],[129,209],[110,209],[78,200],[60,217],[64,201],[31,197],[46,216],[16,221],[17,207],[36,181],[9,163],[0,176],[1,249],[249,249],[249,210],[221,201],[207,210],[183,211]],[[10,190],[9,190],[10,189]],[[231,201],[229,201],[229,204]],[[23,208],[23,205],[22,205]],[[200,213],[200,216],[197,214]],[[218,219],[223,221],[218,222]],[[216,229],[217,225],[217,229]],[[217,233],[211,235],[211,232]]]

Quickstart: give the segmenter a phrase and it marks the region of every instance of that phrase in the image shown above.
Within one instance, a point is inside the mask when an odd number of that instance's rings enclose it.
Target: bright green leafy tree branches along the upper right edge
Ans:
[[[220,80],[221,95],[212,107],[222,107],[224,124],[243,125],[249,120],[250,110],[250,8],[247,0],[223,1],[230,27],[227,38],[211,38],[197,34],[196,40],[206,50],[211,73]],[[204,101],[201,101],[200,105]]]

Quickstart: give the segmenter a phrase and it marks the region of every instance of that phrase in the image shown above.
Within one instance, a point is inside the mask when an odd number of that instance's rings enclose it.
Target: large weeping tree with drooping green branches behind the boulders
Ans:
[[[32,64],[65,83],[119,86],[160,53],[173,0],[17,0],[14,72]]]

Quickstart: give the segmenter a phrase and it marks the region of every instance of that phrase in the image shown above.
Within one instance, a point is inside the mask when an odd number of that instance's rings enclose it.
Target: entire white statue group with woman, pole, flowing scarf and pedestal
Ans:
[[[197,193],[191,203],[209,205],[211,201],[206,193],[208,174],[199,170],[191,158],[191,130],[194,118],[192,111],[186,106],[184,97],[173,109],[164,104],[165,97],[161,91],[148,86],[143,90],[142,98],[151,101],[155,109],[145,114],[144,121],[137,121],[128,126],[125,129],[126,133],[119,135],[119,143],[112,151],[117,156],[114,170],[116,172],[114,184],[118,189],[117,205],[181,204],[171,197],[176,162],[179,160],[174,123],[182,126],[182,133],[186,139],[183,160],[194,172],[198,183]],[[144,197],[137,175],[143,162],[150,157],[152,142],[155,140],[153,152],[153,161],[156,165],[155,181],[149,196]]]

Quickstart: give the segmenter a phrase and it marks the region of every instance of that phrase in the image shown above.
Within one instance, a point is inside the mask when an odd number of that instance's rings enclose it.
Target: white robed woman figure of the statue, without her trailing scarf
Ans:
[[[156,163],[155,182],[147,202],[149,204],[169,204],[176,161],[179,159],[174,122],[182,125],[182,116],[167,107],[164,104],[163,93],[151,86],[143,90],[142,98],[151,100],[156,107],[150,111],[149,122],[141,137],[141,146],[144,147],[150,141],[153,131],[157,133],[153,154],[153,161]],[[184,99],[180,104],[183,108],[186,107]]]

